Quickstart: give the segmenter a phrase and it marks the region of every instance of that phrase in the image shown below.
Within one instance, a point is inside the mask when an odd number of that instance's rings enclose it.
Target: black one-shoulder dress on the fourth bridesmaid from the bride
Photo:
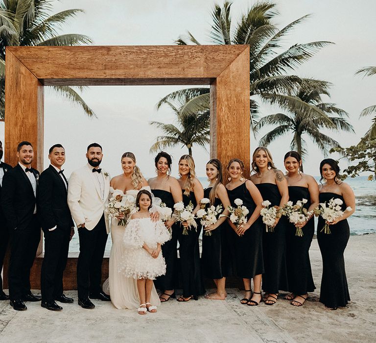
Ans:
[[[232,206],[237,207],[234,202],[236,198],[243,200],[243,206],[249,210],[249,214],[247,215],[247,219],[249,219],[256,208],[256,204],[245,186],[245,182],[233,190],[227,190],[227,194]],[[252,279],[255,275],[264,272],[262,224],[261,217],[259,217],[241,237],[230,228],[232,256],[235,262],[235,274],[237,277]]]

